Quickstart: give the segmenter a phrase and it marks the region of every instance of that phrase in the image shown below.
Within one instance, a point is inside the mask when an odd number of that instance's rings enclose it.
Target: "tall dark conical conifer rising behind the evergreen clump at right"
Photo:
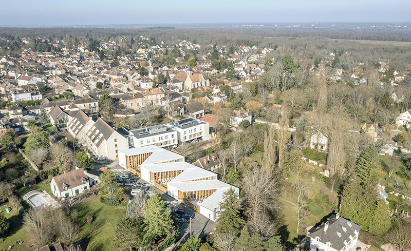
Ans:
[[[373,187],[375,185],[377,162],[378,152],[374,146],[369,146],[361,154],[356,166],[363,186]]]

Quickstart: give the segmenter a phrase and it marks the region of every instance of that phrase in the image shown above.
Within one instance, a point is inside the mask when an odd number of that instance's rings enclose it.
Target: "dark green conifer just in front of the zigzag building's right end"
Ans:
[[[239,231],[245,224],[241,218],[242,207],[238,199],[238,194],[233,188],[226,191],[223,195],[223,202],[220,203],[220,216],[217,220],[216,231],[228,233],[229,231]]]

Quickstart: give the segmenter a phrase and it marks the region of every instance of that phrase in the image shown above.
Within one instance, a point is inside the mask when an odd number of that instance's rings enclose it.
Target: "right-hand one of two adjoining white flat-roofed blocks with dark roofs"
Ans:
[[[168,123],[177,131],[179,142],[190,142],[196,139],[209,140],[210,125],[207,122],[194,118],[183,119]]]

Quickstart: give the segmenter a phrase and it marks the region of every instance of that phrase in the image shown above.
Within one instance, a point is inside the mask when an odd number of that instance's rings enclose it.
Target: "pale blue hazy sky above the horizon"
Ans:
[[[411,0],[2,0],[0,26],[410,22]]]

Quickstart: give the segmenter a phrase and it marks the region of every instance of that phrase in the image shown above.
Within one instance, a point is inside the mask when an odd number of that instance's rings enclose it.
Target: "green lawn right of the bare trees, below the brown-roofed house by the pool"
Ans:
[[[94,196],[74,208],[79,211],[76,223],[81,229],[81,245],[87,250],[116,250],[116,225],[119,219],[125,217],[125,204],[107,206],[100,202],[100,196]],[[87,223],[88,216],[93,216],[91,223]]]

